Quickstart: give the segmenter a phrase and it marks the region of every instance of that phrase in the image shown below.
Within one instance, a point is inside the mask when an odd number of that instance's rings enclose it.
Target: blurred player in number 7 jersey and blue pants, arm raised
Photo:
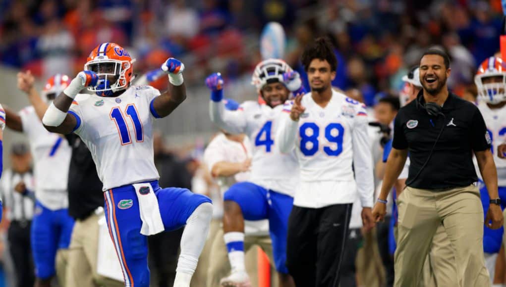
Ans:
[[[70,244],[74,226],[74,220],[68,215],[67,193],[72,151],[64,138],[44,128],[40,118],[46,111],[46,104],[67,87],[70,79],[63,74],[49,78],[42,98],[33,86],[34,80],[30,71],[18,73],[18,88],[28,95],[32,106],[19,114],[6,108],[6,124],[12,130],[25,133],[30,143],[35,175],[35,214],[31,225],[35,286],[50,286],[55,274],[60,282],[65,278],[62,252]]]

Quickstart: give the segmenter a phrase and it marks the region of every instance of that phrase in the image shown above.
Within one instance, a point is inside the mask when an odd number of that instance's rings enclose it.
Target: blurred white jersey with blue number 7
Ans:
[[[72,154],[67,139],[47,131],[31,106],[22,109],[19,116],[33,157],[35,198],[51,210],[67,208],[68,169]]]

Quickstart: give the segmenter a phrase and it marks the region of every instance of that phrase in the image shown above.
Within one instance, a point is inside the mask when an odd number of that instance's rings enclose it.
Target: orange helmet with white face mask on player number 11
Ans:
[[[102,97],[107,97],[116,91],[128,88],[134,75],[132,65],[134,62],[135,59],[132,59],[130,54],[116,43],[98,45],[85,64],[85,71],[97,73],[98,84],[88,89]]]

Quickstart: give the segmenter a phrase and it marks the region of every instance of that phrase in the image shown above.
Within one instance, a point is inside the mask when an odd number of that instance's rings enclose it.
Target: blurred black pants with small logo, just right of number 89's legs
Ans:
[[[355,261],[357,259],[358,248],[361,246],[362,241],[363,237],[360,228],[350,229],[340,270],[341,281],[339,285],[341,287],[357,286],[357,267]]]

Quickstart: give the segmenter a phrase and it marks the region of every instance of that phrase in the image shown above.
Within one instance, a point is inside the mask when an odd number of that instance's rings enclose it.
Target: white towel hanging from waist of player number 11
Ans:
[[[139,199],[139,212],[141,214],[141,234],[153,235],[165,230],[161,220],[158,199],[149,183],[132,184]]]

